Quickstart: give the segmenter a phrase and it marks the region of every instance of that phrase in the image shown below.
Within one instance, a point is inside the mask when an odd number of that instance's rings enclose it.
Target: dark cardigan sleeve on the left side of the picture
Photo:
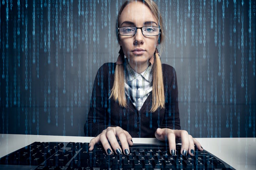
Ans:
[[[106,64],[101,66],[94,80],[90,109],[84,126],[85,136],[96,137],[107,128],[109,93],[107,90],[107,68]]]

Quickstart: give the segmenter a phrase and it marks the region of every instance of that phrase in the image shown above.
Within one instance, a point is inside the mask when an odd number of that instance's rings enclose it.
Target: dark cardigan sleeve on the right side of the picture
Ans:
[[[168,66],[163,73],[166,102],[165,115],[160,128],[181,129],[176,71],[173,67]]]

